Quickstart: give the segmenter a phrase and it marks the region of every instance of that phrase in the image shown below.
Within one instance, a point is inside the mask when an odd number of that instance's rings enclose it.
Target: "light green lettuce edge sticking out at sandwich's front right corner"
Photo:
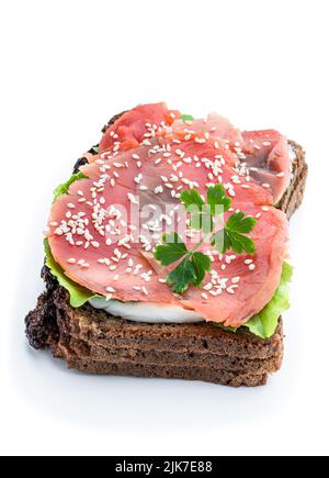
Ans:
[[[270,338],[275,333],[279,319],[283,312],[290,309],[290,284],[293,277],[293,266],[288,263],[283,263],[281,282],[277,287],[273,298],[270,300],[268,305],[249,319],[249,321],[242,325],[249,329],[249,331],[261,338]],[[228,332],[237,332],[238,329],[226,327],[222,324],[214,323],[214,325],[219,326]]]

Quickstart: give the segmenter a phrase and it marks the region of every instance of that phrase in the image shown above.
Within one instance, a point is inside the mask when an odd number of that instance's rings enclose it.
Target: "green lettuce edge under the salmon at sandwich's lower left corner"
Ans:
[[[52,249],[49,246],[49,242],[46,238],[44,241],[45,246],[45,254],[46,254],[46,266],[50,269],[50,273],[53,276],[55,276],[61,287],[64,287],[70,294],[70,304],[73,308],[79,308],[84,305],[86,302],[89,301],[89,299],[92,299],[94,297],[99,297],[94,294],[94,292],[91,292],[88,289],[84,289],[84,287],[79,286],[78,284],[73,282],[71,279],[69,279],[66,275],[63,268],[59,266],[59,264],[56,263],[54,259],[54,256],[52,254]]]

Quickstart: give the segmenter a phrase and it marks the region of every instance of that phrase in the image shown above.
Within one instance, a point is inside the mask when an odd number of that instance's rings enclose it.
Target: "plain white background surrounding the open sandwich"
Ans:
[[[328,18],[327,0],[1,0],[1,454],[328,454]],[[86,377],[26,344],[52,190],[110,116],[160,100],[307,151],[265,388]]]

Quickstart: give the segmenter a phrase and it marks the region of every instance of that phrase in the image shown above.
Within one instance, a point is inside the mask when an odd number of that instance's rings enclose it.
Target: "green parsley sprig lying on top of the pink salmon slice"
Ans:
[[[204,233],[195,247],[189,249],[182,237],[173,232],[164,234],[163,244],[155,251],[155,258],[162,266],[179,263],[167,277],[167,282],[172,285],[175,293],[184,293],[190,286],[201,287],[206,273],[211,271],[209,256],[197,251],[204,242],[209,241],[219,254],[227,251],[237,254],[256,253],[254,242],[246,234],[253,230],[257,221],[236,211],[224,222],[224,212],[229,211],[231,199],[226,196],[222,185],[209,187],[206,196],[207,202],[195,189],[181,193],[181,202],[190,214],[190,226]],[[222,227],[217,230],[219,223]]]

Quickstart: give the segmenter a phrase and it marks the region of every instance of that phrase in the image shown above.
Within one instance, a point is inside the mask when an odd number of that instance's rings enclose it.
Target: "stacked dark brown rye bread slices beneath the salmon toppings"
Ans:
[[[294,142],[290,145],[296,156],[293,179],[279,204],[288,218],[302,203],[307,178],[303,148]],[[75,170],[86,162],[83,157],[79,159]],[[46,291],[26,316],[26,335],[34,348],[50,347],[53,355],[64,358],[70,369],[256,387],[265,385],[269,375],[281,367],[282,321],[266,341],[247,329],[231,333],[209,323],[135,323],[88,304],[73,309],[67,291],[47,267],[43,268],[42,277]]]

